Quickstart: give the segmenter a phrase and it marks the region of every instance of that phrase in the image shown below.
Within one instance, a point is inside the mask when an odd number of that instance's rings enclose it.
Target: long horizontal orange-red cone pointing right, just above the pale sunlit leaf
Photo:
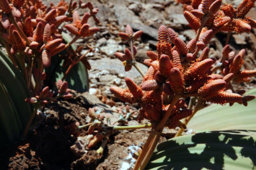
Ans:
[[[225,104],[225,103],[239,103],[242,104],[242,96],[237,93],[229,93],[225,91],[218,92],[215,96],[208,98],[206,101],[217,104]]]

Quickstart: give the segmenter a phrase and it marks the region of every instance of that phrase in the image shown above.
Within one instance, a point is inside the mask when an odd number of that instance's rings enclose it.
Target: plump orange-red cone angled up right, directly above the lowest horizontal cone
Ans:
[[[203,87],[198,89],[198,94],[204,99],[210,98],[215,95],[219,90],[223,89],[226,82],[222,79],[211,80]]]

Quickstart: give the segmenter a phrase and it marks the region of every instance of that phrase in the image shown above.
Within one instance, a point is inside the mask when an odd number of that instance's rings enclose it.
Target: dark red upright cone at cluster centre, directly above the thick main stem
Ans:
[[[170,86],[174,92],[181,93],[184,90],[184,79],[179,68],[172,68],[168,79],[170,80]]]

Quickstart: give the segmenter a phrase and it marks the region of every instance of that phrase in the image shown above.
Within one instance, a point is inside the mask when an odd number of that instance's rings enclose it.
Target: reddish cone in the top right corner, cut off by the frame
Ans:
[[[254,6],[254,3],[254,0],[243,0],[243,2],[237,7],[237,18],[242,18],[245,16]]]

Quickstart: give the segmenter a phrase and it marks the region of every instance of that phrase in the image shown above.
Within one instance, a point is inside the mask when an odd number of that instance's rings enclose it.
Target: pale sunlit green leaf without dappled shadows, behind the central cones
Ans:
[[[256,95],[256,89],[246,95]],[[213,131],[228,129],[256,130],[256,100],[248,102],[248,106],[235,103],[233,106],[211,105],[198,111],[191,118],[187,127],[196,131]]]

